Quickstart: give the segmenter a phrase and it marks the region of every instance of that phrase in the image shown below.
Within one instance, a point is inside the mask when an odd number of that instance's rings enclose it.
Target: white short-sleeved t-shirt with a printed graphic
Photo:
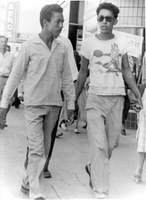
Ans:
[[[89,60],[89,93],[125,95],[121,66],[124,53],[125,47],[117,36],[110,40],[92,36],[83,42],[81,55]]]

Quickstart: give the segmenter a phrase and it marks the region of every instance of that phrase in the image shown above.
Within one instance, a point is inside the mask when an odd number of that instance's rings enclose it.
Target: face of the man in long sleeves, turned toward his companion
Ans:
[[[53,37],[57,38],[62,31],[63,22],[64,22],[63,14],[54,12],[51,21],[46,22],[48,33],[51,33]]]

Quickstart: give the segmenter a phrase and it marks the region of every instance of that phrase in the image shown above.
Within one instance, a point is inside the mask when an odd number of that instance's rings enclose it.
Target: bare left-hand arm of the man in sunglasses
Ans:
[[[86,59],[84,56],[81,56],[81,69],[79,71],[78,80],[76,83],[76,102],[84,88],[84,84],[88,76],[88,65],[89,60]]]

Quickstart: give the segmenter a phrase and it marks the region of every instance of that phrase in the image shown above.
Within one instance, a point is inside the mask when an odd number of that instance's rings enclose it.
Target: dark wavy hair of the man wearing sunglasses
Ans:
[[[119,10],[119,8],[117,6],[115,6],[112,3],[106,3],[106,2],[99,4],[98,8],[96,9],[97,15],[99,14],[99,12],[100,12],[101,9],[110,10],[113,13],[114,18],[117,18],[118,14],[120,12],[120,10]]]

